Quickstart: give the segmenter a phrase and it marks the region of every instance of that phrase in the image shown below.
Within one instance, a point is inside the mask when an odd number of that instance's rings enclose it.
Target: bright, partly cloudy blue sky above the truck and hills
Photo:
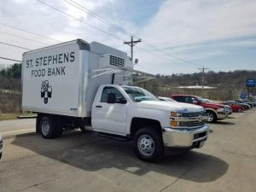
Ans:
[[[76,38],[130,55],[131,35],[142,39],[135,69],[146,73],[256,70],[255,0],[0,1],[0,57],[21,61],[26,49]]]

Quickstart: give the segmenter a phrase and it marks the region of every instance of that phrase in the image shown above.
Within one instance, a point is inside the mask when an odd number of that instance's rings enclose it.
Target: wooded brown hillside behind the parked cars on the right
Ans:
[[[234,72],[212,72],[205,74],[205,85],[216,87],[213,90],[177,89],[178,86],[201,85],[202,73],[156,75],[156,79],[138,84],[158,96],[172,94],[193,94],[210,99],[229,100],[239,98],[241,91],[247,92],[246,79],[256,79],[256,71],[239,70]],[[253,89],[253,94],[256,94]]]

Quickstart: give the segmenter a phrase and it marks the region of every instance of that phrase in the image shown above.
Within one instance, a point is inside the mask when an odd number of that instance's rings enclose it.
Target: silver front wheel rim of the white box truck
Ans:
[[[145,156],[154,154],[155,144],[153,138],[148,135],[142,135],[137,140],[137,148]]]

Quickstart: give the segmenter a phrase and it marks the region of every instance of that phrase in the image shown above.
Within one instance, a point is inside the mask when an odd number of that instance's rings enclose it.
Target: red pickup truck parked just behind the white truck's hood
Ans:
[[[228,108],[223,104],[205,102],[200,96],[172,95],[172,99],[177,102],[187,102],[205,108],[208,116],[207,122],[212,123],[228,117]]]

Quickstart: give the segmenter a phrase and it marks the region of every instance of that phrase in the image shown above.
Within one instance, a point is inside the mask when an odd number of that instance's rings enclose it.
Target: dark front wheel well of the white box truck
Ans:
[[[137,130],[145,126],[154,127],[156,128],[156,130],[161,131],[161,125],[158,120],[146,118],[133,118],[131,120],[131,137],[134,136]]]

